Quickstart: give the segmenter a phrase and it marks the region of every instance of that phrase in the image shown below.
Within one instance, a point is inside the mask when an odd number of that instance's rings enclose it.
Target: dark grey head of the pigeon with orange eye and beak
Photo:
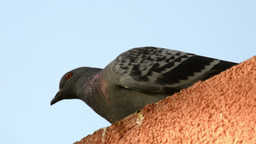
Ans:
[[[88,71],[88,68],[89,67],[79,67],[64,74],[61,78],[60,89],[55,95],[55,98],[50,101],[50,105],[64,99],[79,99],[75,88],[78,84],[78,80],[86,70]]]

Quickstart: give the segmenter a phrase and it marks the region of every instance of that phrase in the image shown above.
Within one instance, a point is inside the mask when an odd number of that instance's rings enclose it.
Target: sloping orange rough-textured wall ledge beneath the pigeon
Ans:
[[[253,56],[75,143],[255,141],[256,56]]]

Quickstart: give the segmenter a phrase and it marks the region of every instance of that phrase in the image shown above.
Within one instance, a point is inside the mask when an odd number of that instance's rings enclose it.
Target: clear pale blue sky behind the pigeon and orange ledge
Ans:
[[[110,124],[83,101],[49,102],[66,72],[155,46],[242,62],[256,1],[0,1],[0,143],[69,144]]]

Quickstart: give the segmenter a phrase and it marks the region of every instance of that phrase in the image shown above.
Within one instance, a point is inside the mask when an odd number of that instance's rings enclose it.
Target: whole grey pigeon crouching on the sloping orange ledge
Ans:
[[[64,74],[50,105],[64,99],[79,99],[113,124],[147,104],[235,65],[172,49],[134,48],[104,69],[84,66]]]

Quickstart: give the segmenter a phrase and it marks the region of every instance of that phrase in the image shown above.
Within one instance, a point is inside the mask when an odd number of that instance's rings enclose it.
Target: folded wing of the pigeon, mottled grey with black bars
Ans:
[[[135,48],[108,65],[116,84],[143,92],[166,93],[188,88],[236,63],[154,47]]]

